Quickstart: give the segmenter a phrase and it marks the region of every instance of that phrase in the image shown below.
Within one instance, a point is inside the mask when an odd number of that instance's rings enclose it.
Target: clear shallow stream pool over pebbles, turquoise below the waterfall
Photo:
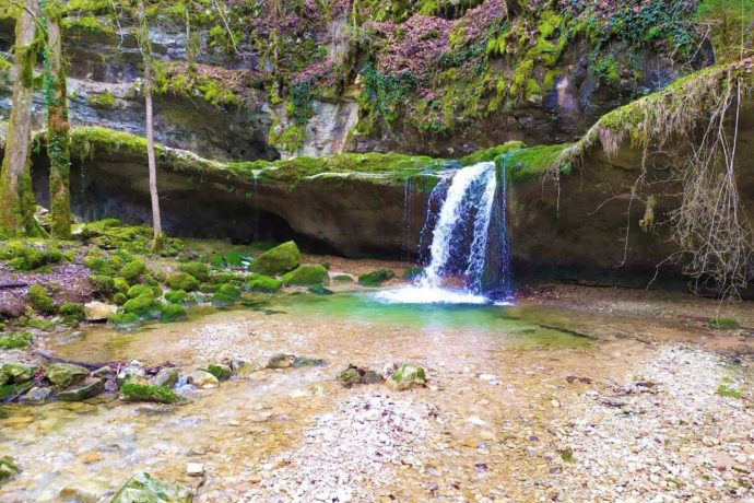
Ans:
[[[445,440],[427,446],[424,464],[463,486],[491,489],[546,469],[540,459],[527,460],[526,452],[506,452],[500,428],[513,421],[544,435],[551,411],[543,403],[567,400],[565,376],[620,374],[649,351],[633,336],[683,332],[652,320],[546,306],[385,304],[376,293],[255,295],[233,309],[191,311],[185,323],[134,332],[95,327],[76,340],[56,336],[47,349],[78,361],[199,365],[240,355],[260,370],[217,389],[192,391],[184,406],[122,403],[113,396],[5,406],[0,451],[11,453],[24,471],[0,487],[0,499],[58,501],[66,488],[102,495],[138,469],[196,487],[199,481],[187,477],[185,467],[201,461],[208,476],[198,501],[238,501],[270,471],[264,463],[302,446],[314,418],[340,400],[375,393],[441,411],[445,433],[438,434]],[[325,358],[328,365],[261,370],[276,352]],[[350,363],[380,370],[401,361],[425,366],[432,386],[398,394],[379,385],[345,389],[335,381]],[[446,444],[456,454],[443,454]],[[494,466],[518,459],[521,466],[480,475],[473,468],[479,459]],[[396,484],[382,490],[426,498],[433,472],[401,471]]]

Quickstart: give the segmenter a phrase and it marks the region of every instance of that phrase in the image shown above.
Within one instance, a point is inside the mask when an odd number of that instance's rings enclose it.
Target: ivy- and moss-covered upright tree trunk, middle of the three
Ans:
[[[47,155],[50,160],[50,214],[52,237],[71,237],[69,176],[71,139],[68,122],[66,69],[62,65],[60,19],[55,12],[47,16]]]

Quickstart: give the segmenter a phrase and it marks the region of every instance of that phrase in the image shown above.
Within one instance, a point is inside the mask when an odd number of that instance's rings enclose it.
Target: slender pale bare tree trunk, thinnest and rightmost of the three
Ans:
[[[141,21],[141,54],[144,59],[144,101],[146,105],[146,159],[150,167],[150,197],[152,199],[152,227],[154,241],[152,252],[162,249],[163,230],[160,219],[160,196],[157,194],[157,163],[154,156],[154,120],[152,116],[152,44],[144,13],[144,0],[139,1]]]

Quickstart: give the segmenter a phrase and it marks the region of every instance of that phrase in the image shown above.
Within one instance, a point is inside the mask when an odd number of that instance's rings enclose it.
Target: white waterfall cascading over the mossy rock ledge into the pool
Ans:
[[[380,292],[386,302],[488,303],[509,294],[505,174],[494,162],[459,169],[437,185],[427,208],[422,239],[432,231],[429,259],[411,288]],[[433,202],[445,195],[439,212]]]

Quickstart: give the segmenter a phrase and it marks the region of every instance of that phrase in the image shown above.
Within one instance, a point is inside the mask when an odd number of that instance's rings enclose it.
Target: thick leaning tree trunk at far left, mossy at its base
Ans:
[[[15,27],[13,102],[0,171],[0,233],[9,235],[42,233],[34,220],[35,202],[30,174],[37,1],[25,0],[24,8]]]

